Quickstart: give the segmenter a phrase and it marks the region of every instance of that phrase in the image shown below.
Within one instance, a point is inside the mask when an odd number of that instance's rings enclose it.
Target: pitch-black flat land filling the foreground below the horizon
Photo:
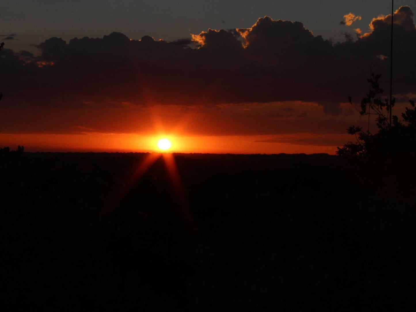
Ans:
[[[414,161],[175,154],[0,157],[2,306],[383,311],[415,295]],[[190,208],[191,213],[186,212]]]

